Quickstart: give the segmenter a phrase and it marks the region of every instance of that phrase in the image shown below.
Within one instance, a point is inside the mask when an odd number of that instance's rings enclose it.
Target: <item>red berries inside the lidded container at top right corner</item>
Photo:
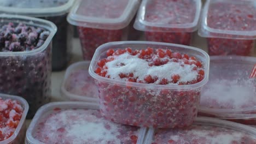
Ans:
[[[217,2],[210,5],[207,23],[211,28],[223,31],[255,31],[256,9],[248,4],[229,4]],[[218,37],[218,34],[216,35]],[[254,40],[234,39],[237,35],[223,34],[223,38],[208,38],[210,55],[250,56]]]

